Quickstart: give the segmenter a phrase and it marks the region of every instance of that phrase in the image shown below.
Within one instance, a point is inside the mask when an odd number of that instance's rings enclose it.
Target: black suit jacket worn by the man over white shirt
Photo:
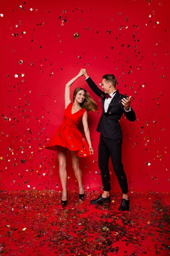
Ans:
[[[126,98],[127,96],[120,94],[119,91],[116,91],[111,103],[109,104],[109,108],[105,113],[104,110],[104,102],[105,102],[105,93],[98,88],[98,86],[94,83],[94,81],[88,77],[86,79],[89,87],[93,90],[93,92],[98,95],[102,99],[102,115],[100,117],[97,132],[101,132],[103,137],[114,139],[114,140],[121,140],[122,139],[122,130],[119,124],[120,118],[122,117],[123,113],[125,117],[129,121],[135,121],[136,116],[135,112],[131,108],[131,111],[126,112],[124,110],[124,106],[121,103],[122,98]]]

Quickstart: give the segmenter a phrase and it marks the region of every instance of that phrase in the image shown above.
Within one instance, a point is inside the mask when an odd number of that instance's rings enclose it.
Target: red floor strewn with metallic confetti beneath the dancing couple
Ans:
[[[99,193],[68,191],[60,205],[59,191],[0,193],[1,255],[168,256],[170,193],[131,193],[131,207],[118,211],[121,194],[110,205],[89,201]]]

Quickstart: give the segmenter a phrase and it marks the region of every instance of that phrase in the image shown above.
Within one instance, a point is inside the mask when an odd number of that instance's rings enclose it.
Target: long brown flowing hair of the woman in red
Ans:
[[[85,108],[88,112],[98,110],[98,106],[97,106],[96,102],[92,99],[90,94],[85,89],[83,89],[81,87],[78,87],[74,90],[73,101],[74,101],[76,95],[78,94],[78,92],[81,90],[83,90],[85,92],[85,99],[80,104],[81,108]]]

